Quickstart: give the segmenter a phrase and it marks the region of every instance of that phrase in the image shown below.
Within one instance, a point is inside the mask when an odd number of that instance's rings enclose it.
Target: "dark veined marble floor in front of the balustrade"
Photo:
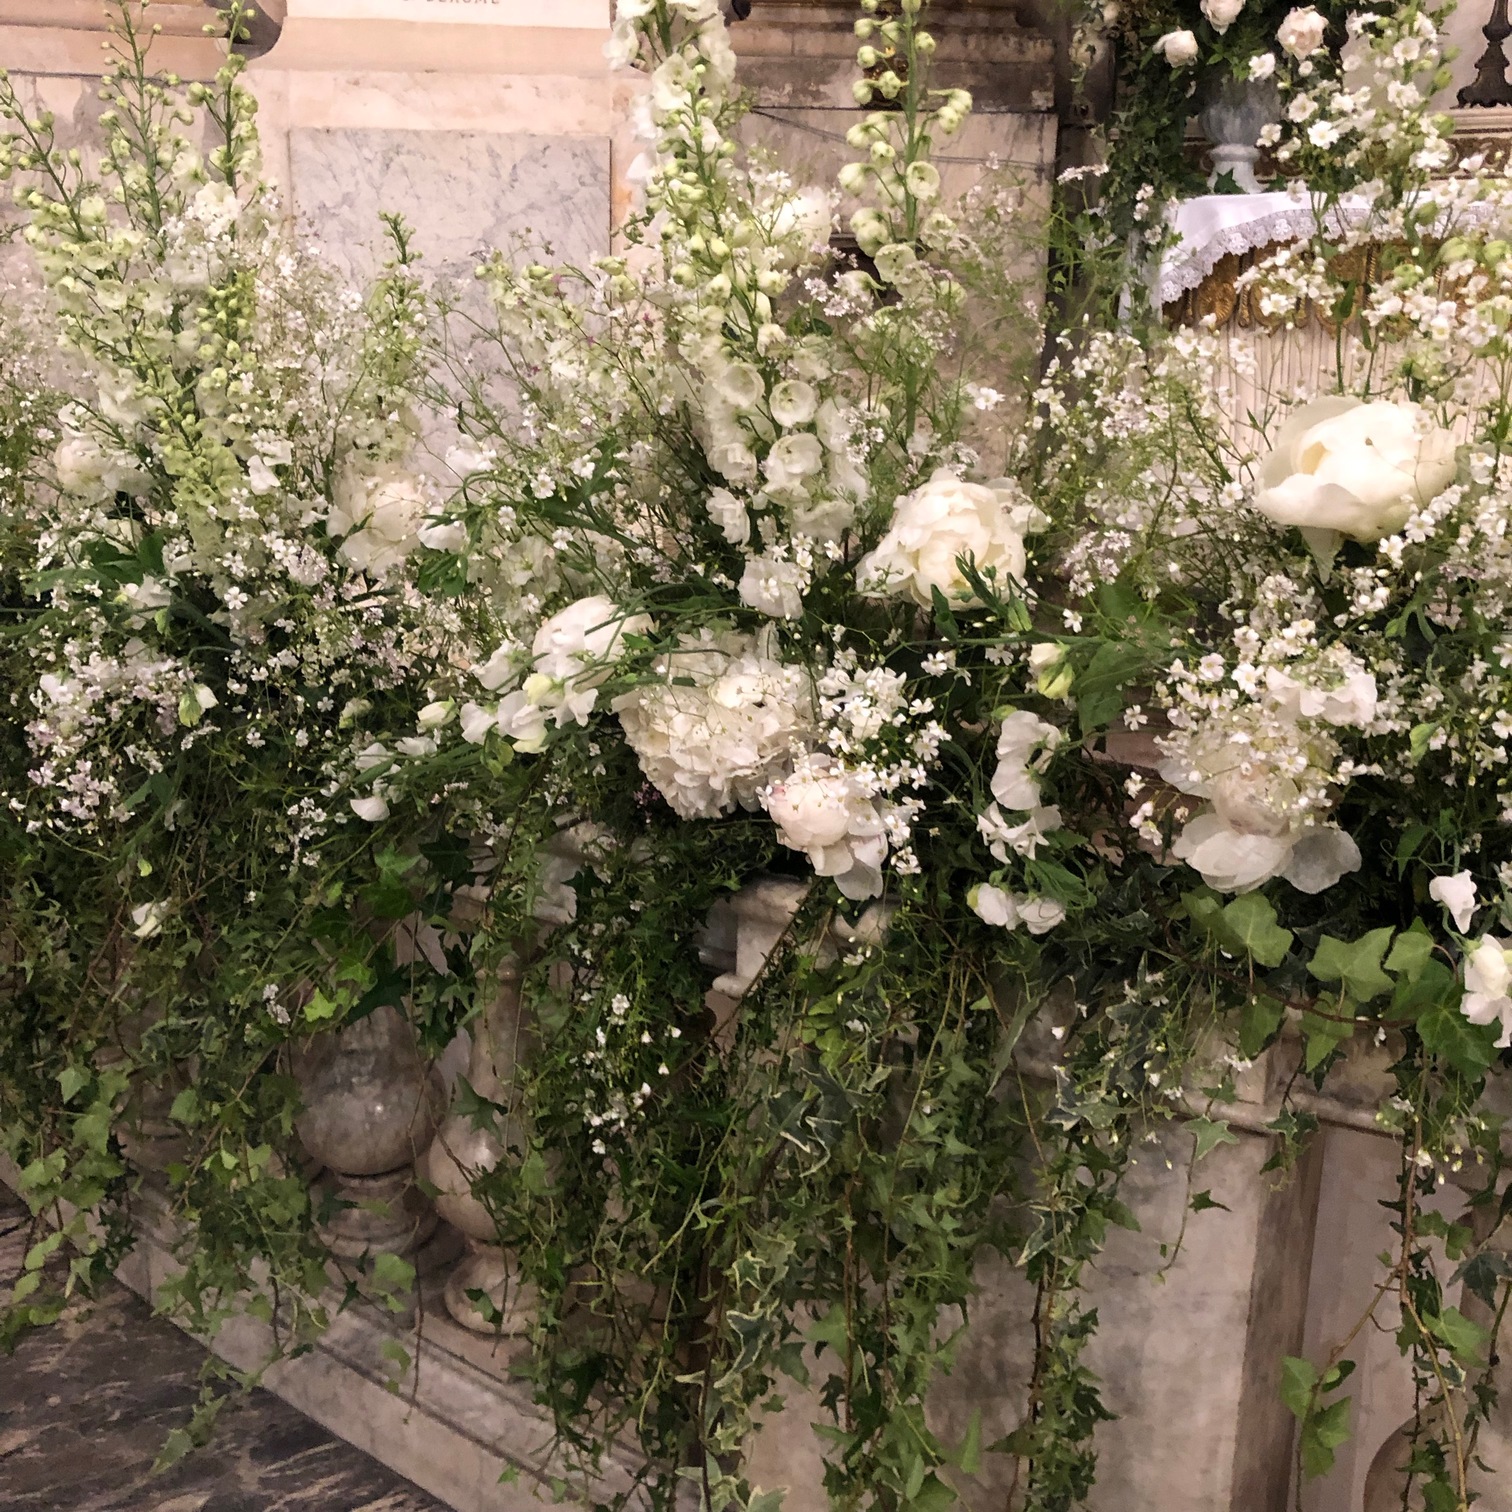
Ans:
[[[0,1187],[0,1285],[24,1208]],[[266,1391],[231,1402],[209,1447],[153,1474],[198,1397],[198,1346],[124,1287],[0,1353],[6,1512],[446,1512]]]

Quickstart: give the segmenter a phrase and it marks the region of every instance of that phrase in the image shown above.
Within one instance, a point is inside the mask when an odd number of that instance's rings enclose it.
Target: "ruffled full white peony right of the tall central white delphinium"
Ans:
[[[1045,516],[1025,500],[1018,485],[966,482],[948,467],[924,487],[898,499],[888,534],[856,567],[856,582],[872,597],[913,599],[933,606],[931,590],[954,603],[977,602],[960,570],[971,558],[977,570],[1007,588],[1022,582],[1028,567],[1024,537],[1043,529]]]

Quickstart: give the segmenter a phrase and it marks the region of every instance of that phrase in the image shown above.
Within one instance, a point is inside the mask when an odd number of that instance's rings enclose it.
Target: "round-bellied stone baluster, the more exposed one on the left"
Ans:
[[[435,1213],[414,1184],[446,1105],[440,1078],[425,1063],[408,1019],[392,1007],[311,1040],[295,1057],[304,1093],[295,1131],[321,1163],[316,1208],[336,1211],[318,1225],[334,1255],[408,1255],[435,1229]]]

